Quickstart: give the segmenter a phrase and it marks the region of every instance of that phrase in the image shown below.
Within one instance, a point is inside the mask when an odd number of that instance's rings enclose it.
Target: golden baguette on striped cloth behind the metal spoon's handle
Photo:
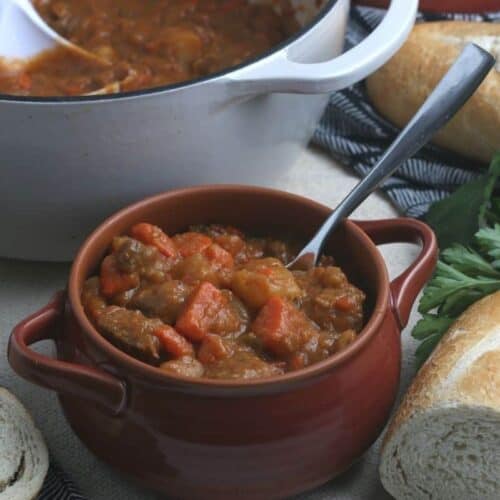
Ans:
[[[401,50],[366,80],[375,108],[397,126],[406,125],[468,42],[500,61],[498,23],[416,25]],[[433,142],[481,162],[500,150],[500,63]]]

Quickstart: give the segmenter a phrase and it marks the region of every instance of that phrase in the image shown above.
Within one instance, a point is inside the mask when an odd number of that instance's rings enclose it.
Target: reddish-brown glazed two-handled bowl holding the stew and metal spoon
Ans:
[[[349,279],[367,293],[366,326],[346,350],[306,369],[254,381],[175,377],[115,348],[84,314],[80,291],[113,236],[140,221],[168,233],[232,224],[253,234],[304,238],[330,209],[288,193],[207,186],[147,199],[105,221],[76,257],[68,292],[12,332],[9,361],[53,389],[68,421],[98,457],[174,498],[278,498],[324,483],[373,443],[394,403],[401,328],[437,256],[432,231],[413,219],[346,222],[330,239]],[[377,244],[422,243],[389,282]],[[29,348],[54,339],[57,359]]]

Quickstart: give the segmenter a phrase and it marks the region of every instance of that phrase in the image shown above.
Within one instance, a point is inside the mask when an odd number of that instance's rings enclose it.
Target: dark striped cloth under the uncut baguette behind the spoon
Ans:
[[[366,37],[383,16],[381,9],[352,8],[347,47]],[[419,21],[449,19],[500,22],[500,12],[485,15],[419,15]],[[330,97],[313,142],[328,149],[335,159],[364,176],[397,133],[398,129],[371,106],[361,82]],[[480,165],[474,164],[473,160],[430,145],[405,162],[383,184],[382,189],[402,214],[421,217],[430,204],[480,175],[478,167]]]

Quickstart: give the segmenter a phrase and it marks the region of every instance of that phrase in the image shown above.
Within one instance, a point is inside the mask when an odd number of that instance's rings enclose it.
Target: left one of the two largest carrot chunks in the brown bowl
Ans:
[[[190,340],[202,340],[226,305],[223,293],[212,283],[203,281],[188,298],[175,328]]]

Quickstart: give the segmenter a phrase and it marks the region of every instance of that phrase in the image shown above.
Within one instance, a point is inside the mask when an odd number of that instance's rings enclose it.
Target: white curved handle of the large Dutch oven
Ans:
[[[383,21],[362,42],[329,61],[293,60],[295,47],[241,68],[228,82],[236,95],[288,92],[322,94],[356,83],[387,62],[413,27],[418,0],[392,0]]]

